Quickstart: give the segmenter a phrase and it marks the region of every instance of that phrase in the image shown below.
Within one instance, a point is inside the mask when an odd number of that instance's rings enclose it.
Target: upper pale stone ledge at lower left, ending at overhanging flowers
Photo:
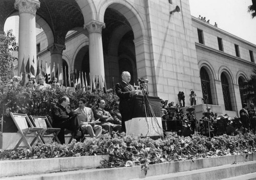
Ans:
[[[74,169],[90,169],[100,165],[107,155],[0,161],[0,177],[40,174]]]

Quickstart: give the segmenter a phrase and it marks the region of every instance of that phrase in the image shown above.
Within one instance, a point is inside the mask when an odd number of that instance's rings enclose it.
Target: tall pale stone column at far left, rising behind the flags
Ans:
[[[19,35],[18,35],[18,74],[22,66],[24,54],[25,65],[30,56],[30,64],[33,57],[36,59],[36,10],[40,7],[38,0],[16,0],[14,7],[19,12]],[[36,69],[36,60],[34,62]]]

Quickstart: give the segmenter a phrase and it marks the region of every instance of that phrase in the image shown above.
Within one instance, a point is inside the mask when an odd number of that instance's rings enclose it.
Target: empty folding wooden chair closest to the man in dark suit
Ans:
[[[40,134],[41,141],[45,144],[46,141],[44,139],[46,138],[52,138],[51,141],[56,140],[58,143],[59,139],[57,137],[60,128],[53,128],[51,123],[49,122],[48,118],[46,116],[29,116],[32,125],[34,127],[40,127],[44,130]]]

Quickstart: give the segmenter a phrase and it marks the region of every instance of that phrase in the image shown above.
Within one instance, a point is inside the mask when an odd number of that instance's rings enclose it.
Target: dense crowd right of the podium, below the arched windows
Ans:
[[[167,101],[161,101],[161,113],[162,120],[164,121],[179,121],[181,123],[176,123],[182,125],[181,129],[177,128],[178,134],[186,135],[194,134],[195,130],[206,134],[220,135],[220,134],[234,134],[238,132],[248,132],[252,131],[254,134],[256,132],[256,108],[253,103],[250,104],[250,108],[245,103],[243,108],[240,110],[240,118],[234,117],[231,119],[228,114],[219,115],[210,110],[209,107],[206,108],[202,117],[196,117],[195,108],[190,106],[189,108],[181,107],[179,103],[174,105],[171,102],[167,105]],[[168,127],[165,127],[168,129]],[[211,135],[210,135],[211,136]]]

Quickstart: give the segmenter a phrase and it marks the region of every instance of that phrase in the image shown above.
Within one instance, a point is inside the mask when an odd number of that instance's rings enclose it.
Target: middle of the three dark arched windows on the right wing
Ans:
[[[222,93],[226,110],[232,110],[227,77],[221,73]]]

